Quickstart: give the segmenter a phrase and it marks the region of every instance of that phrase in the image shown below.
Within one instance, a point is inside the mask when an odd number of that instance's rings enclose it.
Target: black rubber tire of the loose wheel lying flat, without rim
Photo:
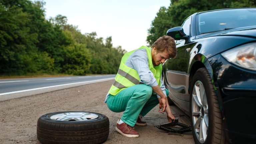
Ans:
[[[108,138],[109,119],[105,115],[98,114],[98,119],[90,122],[62,122],[47,115],[37,121],[37,138],[42,144],[98,144]]]

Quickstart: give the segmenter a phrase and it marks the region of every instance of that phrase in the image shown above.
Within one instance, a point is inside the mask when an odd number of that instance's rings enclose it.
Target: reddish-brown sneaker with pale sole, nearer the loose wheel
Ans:
[[[139,133],[134,130],[134,127],[129,126],[127,123],[118,124],[120,119],[118,119],[116,124],[116,130],[126,137],[139,137]]]

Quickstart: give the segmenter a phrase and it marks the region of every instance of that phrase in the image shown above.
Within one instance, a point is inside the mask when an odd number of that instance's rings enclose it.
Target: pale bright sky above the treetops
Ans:
[[[131,51],[147,44],[148,29],[160,7],[170,0],[43,0],[46,19],[58,14],[82,34],[112,36],[114,47]]]

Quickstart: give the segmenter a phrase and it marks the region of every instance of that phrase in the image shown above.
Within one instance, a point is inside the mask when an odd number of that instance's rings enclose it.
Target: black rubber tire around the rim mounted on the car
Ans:
[[[223,121],[221,112],[218,106],[217,96],[212,84],[211,77],[206,68],[200,68],[196,71],[193,79],[192,79],[192,88],[190,90],[190,119],[191,119],[191,127],[192,133],[194,137],[195,144],[202,144],[198,141],[193,121],[192,121],[192,91],[194,89],[194,85],[196,81],[201,81],[205,88],[205,93],[207,97],[208,103],[208,113],[209,113],[209,127],[208,134],[205,142],[203,144],[224,144],[225,143],[225,134],[223,128]]]

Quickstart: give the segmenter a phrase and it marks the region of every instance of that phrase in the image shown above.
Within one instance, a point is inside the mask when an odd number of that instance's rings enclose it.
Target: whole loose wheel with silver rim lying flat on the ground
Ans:
[[[42,144],[98,144],[106,141],[108,134],[109,119],[99,113],[54,112],[37,121],[37,139]]]

